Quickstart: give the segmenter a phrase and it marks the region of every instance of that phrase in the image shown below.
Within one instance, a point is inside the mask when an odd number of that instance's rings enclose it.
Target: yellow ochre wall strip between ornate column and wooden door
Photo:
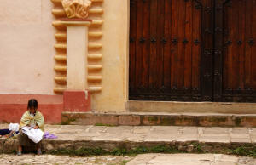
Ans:
[[[95,111],[125,111],[128,85],[128,4],[104,0],[102,92],[92,94]]]

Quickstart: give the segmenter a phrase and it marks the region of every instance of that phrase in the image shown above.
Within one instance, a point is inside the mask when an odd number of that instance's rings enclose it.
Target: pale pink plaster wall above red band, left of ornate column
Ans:
[[[53,94],[49,0],[0,0],[0,94]]]

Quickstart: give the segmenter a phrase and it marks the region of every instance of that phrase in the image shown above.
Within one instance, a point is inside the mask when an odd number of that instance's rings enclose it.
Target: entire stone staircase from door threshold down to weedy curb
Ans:
[[[198,104],[133,101],[128,104],[129,112],[62,112],[62,125],[45,127],[58,139],[44,139],[43,151],[73,156],[152,152],[256,156],[253,104],[200,103],[211,113],[203,109],[195,113]],[[0,147],[3,153],[14,152],[17,139],[0,139]]]

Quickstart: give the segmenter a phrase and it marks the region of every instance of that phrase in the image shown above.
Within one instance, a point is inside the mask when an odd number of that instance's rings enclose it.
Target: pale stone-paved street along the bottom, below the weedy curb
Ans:
[[[24,154],[0,155],[0,164],[101,164],[101,165],[255,165],[251,157],[220,154],[143,154],[132,156],[70,157]]]

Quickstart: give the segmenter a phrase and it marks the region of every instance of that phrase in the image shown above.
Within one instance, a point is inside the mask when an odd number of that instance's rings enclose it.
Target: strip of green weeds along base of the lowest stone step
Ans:
[[[216,147],[217,146],[217,147]],[[180,148],[186,147],[186,150],[179,150]],[[191,143],[187,146],[180,147],[178,145],[154,145],[154,146],[138,146],[131,150],[126,148],[116,148],[112,151],[106,151],[102,148],[80,148],[78,150],[53,150],[48,151],[49,154],[54,155],[69,155],[69,156],[137,156],[138,154],[145,153],[215,153],[215,154],[228,154],[237,156],[251,156],[256,157],[256,146],[253,145],[230,145],[222,146],[219,149],[218,145],[215,144],[204,144]]]

